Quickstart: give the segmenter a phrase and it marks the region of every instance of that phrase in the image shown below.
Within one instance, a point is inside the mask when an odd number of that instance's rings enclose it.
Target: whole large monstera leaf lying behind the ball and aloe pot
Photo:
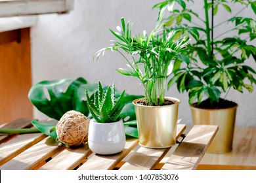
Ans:
[[[28,98],[39,111],[57,121],[69,110],[79,111],[91,118],[86,104],[86,88],[89,91],[89,95],[91,95],[97,90],[98,85],[87,82],[84,78],[77,78],[76,80],[64,78],[61,80],[42,81],[32,86]],[[107,88],[107,86],[105,86],[104,89],[105,88]],[[116,93],[118,95],[120,92],[116,91]],[[125,116],[123,120],[125,123],[134,122],[136,120],[135,108],[132,102],[139,97],[142,96],[125,94],[125,107],[121,112],[121,115]],[[49,124],[43,124],[42,122],[33,122],[33,125],[42,133],[45,133],[47,129],[53,129],[50,136],[56,137],[56,130],[53,128],[53,125],[48,126]],[[134,123],[133,125],[125,124],[125,133],[131,137],[137,137],[137,126]],[[47,135],[49,135],[49,133]]]

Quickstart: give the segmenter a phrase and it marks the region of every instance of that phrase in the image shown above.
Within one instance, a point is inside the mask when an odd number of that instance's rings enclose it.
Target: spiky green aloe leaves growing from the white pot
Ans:
[[[98,82],[98,90],[91,97],[86,90],[87,106],[92,117],[98,123],[112,123],[121,120],[120,113],[125,106],[123,104],[124,96],[125,90],[119,97],[116,97],[114,83],[104,91],[102,84]]]

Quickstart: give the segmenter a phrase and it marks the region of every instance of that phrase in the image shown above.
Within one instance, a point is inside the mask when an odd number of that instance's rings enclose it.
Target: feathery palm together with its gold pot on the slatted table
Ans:
[[[119,68],[122,75],[139,78],[144,88],[144,97],[133,101],[138,122],[139,144],[147,148],[165,148],[176,142],[177,115],[180,100],[165,96],[165,81],[171,74],[173,63],[181,59],[180,52],[188,44],[188,37],[177,36],[176,31],[166,33],[162,29],[160,14],[155,29],[148,35],[131,35],[131,22],[125,24],[121,18],[121,27],[117,32],[110,31],[116,37],[107,48],[96,52],[98,59],[105,50],[121,54],[127,62],[127,69]]]

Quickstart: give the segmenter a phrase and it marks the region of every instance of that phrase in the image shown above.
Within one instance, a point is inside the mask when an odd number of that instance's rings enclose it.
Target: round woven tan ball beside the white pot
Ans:
[[[58,140],[68,146],[81,146],[88,140],[90,119],[81,112],[70,110],[56,124]]]

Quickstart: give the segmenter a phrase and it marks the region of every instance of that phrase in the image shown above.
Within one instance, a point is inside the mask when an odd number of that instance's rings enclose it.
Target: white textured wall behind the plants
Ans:
[[[100,80],[103,84],[115,81],[119,90],[143,94],[137,79],[116,72],[117,68],[125,65],[117,53],[106,52],[98,62],[92,58],[96,51],[110,44],[110,39],[114,37],[109,29],[120,25],[121,17],[135,22],[133,33],[150,32],[158,15],[158,10],[152,10],[157,2],[161,1],[77,0],[69,14],[39,16],[31,33],[33,84],[41,80],[82,76],[91,82]],[[251,67],[255,69],[254,61],[251,61]],[[236,125],[256,126],[255,93],[231,91],[228,95],[228,99],[239,105]],[[182,118],[182,123],[192,125],[188,94],[178,93],[173,87],[167,95],[181,99],[179,118]],[[47,118],[36,109],[34,117],[39,120]]]

